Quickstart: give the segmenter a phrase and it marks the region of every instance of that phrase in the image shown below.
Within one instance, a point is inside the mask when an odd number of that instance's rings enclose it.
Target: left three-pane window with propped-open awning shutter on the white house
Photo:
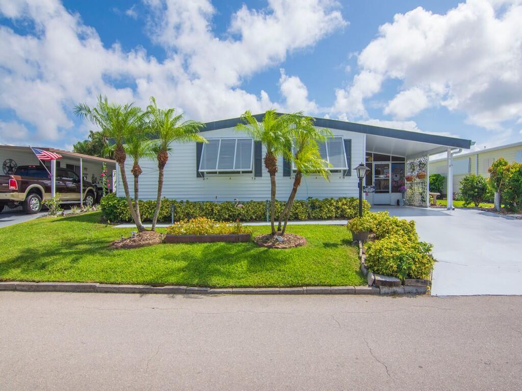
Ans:
[[[252,171],[253,150],[254,140],[250,138],[208,139],[201,151],[199,171]]]

